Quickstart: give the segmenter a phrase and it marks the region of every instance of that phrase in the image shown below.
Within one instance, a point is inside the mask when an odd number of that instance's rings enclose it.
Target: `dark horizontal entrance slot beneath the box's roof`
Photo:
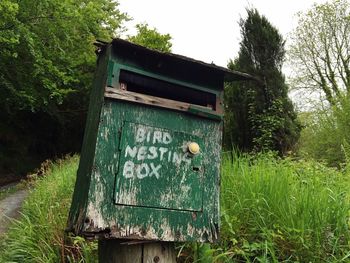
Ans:
[[[128,91],[216,109],[216,95],[209,92],[189,89],[126,70],[120,71],[119,82],[121,88]]]

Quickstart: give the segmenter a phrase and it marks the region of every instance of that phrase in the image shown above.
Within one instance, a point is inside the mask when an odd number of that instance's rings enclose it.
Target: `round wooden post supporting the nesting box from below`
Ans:
[[[100,263],[175,263],[176,253],[171,242],[127,242],[105,239],[98,242]]]

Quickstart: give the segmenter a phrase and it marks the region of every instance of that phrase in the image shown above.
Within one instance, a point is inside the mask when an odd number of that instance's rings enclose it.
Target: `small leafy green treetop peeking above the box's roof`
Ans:
[[[161,34],[155,28],[149,28],[148,24],[137,24],[137,34],[129,36],[128,40],[135,44],[145,46],[161,52],[171,52],[171,36]]]

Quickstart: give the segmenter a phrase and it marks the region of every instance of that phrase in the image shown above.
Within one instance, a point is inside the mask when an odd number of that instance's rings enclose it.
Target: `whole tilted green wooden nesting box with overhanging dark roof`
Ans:
[[[100,45],[68,228],[215,241],[223,85],[247,78],[121,39]]]

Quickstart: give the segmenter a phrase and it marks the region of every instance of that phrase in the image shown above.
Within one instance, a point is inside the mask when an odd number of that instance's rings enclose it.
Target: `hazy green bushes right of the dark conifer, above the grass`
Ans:
[[[350,97],[344,96],[332,107],[303,113],[304,129],[299,153],[327,165],[343,167],[350,154]]]

